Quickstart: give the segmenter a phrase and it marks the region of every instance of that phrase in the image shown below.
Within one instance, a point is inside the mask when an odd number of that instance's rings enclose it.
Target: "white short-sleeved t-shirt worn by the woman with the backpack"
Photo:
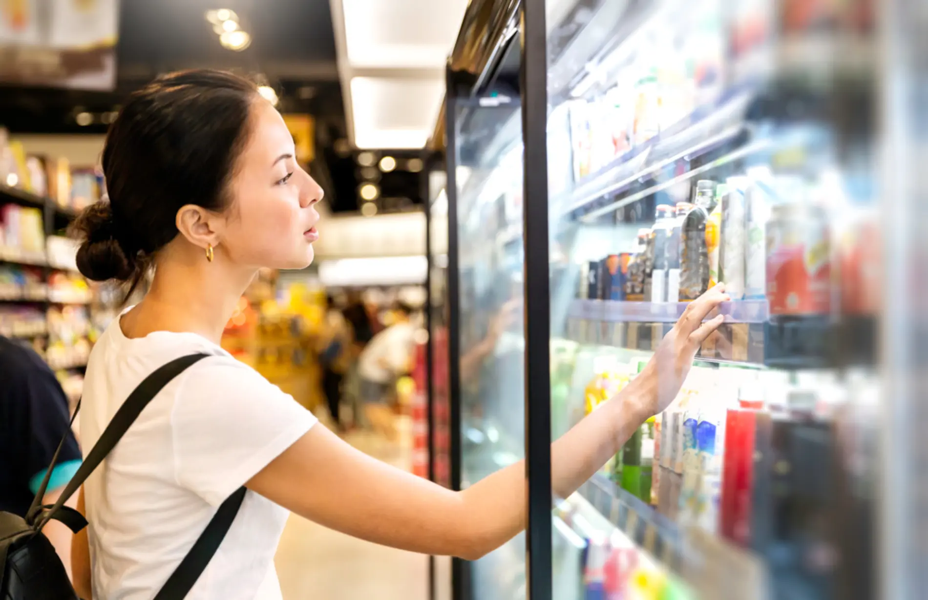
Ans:
[[[219,504],[316,424],[251,367],[190,333],[126,338],[119,319],[90,355],[84,452],[162,364],[208,352],[152,400],[84,483],[94,600],[149,600]],[[187,600],[278,600],[274,554],[288,511],[248,491]]]

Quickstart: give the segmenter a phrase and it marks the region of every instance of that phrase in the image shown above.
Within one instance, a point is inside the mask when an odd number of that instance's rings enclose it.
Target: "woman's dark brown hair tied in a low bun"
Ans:
[[[256,91],[226,71],[184,70],[129,97],[103,148],[109,200],[85,209],[71,228],[83,240],[84,276],[135,288],[155,252],[177,236],[181,207],[226,208]]]

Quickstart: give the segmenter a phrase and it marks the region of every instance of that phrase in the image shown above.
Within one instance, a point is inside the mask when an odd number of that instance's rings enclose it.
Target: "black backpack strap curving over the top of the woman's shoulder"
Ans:
[[[174,377],[177,377],[186,371],[187,368],[197,364],[207,356],[211,356],[211,354],[187,354],[187,356],[175,358],[170,363],[164,364],[156,369],[154,373],[145,377],[142,383],[138,384],[138,387],[129,394],[125,402],[122,402],[122,406],[119,407],[119,410],[116,411],[116,414],[113,415],[113,418],[110,420],[110,425],[104,429],[103,433],[100,435],[100,439],[97,440],[94,447],[87,453],[87,457],[84,458],[84,462],[81,463],[80,468],[77,469],[77,473],[74,474],[74,477],[68,482],[64,491],[58,496],[58,501],[43,514],[36,528],[37,530],[41,531],[42,528],[45,527],[45,523],[47,523],[50,518],[55,517],[55,514],[60,510],[61,506],[68,502],[68,499],[74,495],[74,492],[84,484],[84,480],[93,473],[94,469],[96,469],[101,462],[103,462],[103,459],[107,457],[110,450],[122,439],[123,434],[129,429],[129,426],[135,422],[135,419],[142,413],[142,410],[148,406],[148,402],[151,402],[152,399],[158,395],[158,392],[160,392],[164,386],[168,385]],[[48,466],[48,472],[45,473],[45,484],[47,484],[47,479],[49,478],[49,473],[53,466],[54,465]]]

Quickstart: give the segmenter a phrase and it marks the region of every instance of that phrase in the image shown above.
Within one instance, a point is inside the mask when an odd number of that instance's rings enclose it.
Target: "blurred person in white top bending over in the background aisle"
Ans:
[[[408,304],[397,302],[393,310],[393,325],[374,336],[357,360],[364,414],[370,425],[390,440],[396,437],[390,406],[391,390],[396,379],[409,372],[416,344],[412,313],[413,309]]]

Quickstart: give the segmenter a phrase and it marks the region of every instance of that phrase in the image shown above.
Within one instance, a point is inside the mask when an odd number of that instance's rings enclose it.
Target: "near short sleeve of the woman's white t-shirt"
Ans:
[[[229,357],[191,367],[174,401],[177,483],[222,504],[316,424],[316,416]]]

